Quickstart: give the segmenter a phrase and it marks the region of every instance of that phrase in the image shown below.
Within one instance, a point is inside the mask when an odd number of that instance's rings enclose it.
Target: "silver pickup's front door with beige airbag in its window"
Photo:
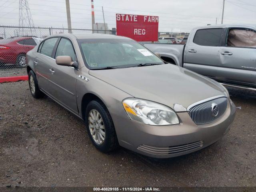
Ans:
[[[220,48],[219,79],[256,85],[256,32],[248,28],[229,28],[225,46]],[[252,48],[254,46],[254,48]]]

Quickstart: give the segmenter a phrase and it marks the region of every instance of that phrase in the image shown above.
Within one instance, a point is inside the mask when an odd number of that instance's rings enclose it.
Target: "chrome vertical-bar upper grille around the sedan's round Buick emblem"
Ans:
[[[212,112],[213,106],[218,106],[218,114],[216,116]],[[226,112],[227,106],[228,99],[221,97],[193,106],[188,113],[195,124],[207,124],[220,118]]]

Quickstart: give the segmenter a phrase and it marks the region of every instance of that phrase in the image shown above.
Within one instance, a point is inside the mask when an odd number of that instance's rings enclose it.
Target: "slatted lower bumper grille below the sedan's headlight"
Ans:
[[[188,152],[188,151],[200,148],[203,145],[204,145],[203,141],[197,141],[189,144],[177,145],[177,146],[171,146],[171,147],[154,147],[149,145],[140,145],[138,146],[137,149],[153,155],[170,155],[170,154]]]

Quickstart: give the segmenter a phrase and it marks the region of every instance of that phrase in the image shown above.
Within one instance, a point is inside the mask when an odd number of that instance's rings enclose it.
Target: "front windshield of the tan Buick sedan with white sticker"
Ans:
[[[78,43],[89,69],[164,64],[158,56],[130,39],[80,39]]]

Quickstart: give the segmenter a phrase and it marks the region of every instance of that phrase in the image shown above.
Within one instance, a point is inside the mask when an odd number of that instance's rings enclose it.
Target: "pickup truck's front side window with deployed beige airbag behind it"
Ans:
[[[256,32],[250,29],[230,29],[226,46],[256,48]]]

